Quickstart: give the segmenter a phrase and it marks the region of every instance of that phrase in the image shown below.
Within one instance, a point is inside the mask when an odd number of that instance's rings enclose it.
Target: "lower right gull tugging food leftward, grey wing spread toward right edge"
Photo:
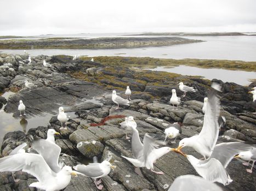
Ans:
[[[219,182],[226,186],[232,182],[232,179],[225,168],[237,153],[251,148],[252,145],[243,142],[224,142],[216,145],[211,156],[206,160],[199,160],[192,155],[183,154],[183,156],[189,160],[196,172],[205,180]]]

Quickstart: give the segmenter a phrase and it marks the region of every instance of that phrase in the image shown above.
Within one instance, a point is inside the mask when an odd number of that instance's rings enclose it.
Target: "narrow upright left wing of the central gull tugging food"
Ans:
[[[143,144],[140,141],[139,132],[136,128],[132,128],[132,152],[135,159],[140,159],[143,157]],[[144,159],[142,159],[144,160]]]

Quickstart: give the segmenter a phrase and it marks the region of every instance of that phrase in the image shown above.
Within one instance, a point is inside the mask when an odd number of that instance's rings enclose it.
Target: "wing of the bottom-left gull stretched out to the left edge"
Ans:
[[[42,184],[54,181],[56,174],[39,154],[21,153],[0,158],[0,171],[22,170],[37,178]],[[53,183],[53,182],[52,182]]]

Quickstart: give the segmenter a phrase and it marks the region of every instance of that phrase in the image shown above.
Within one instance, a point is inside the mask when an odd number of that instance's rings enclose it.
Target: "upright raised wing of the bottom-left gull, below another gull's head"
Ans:
[[[32,147],[41,154],[50,169],[56,173],[61,170],[59,166],[61,148],[58,145],[45,139],[39,139],[32,142]]]

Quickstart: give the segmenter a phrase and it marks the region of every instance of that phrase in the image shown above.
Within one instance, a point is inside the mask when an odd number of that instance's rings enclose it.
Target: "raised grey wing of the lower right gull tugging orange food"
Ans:
[[[253,146],[243,142],[223,142],[214,147],[210,158],[215,158],[226,168],[230,161],[243,151],[249,151]]]

